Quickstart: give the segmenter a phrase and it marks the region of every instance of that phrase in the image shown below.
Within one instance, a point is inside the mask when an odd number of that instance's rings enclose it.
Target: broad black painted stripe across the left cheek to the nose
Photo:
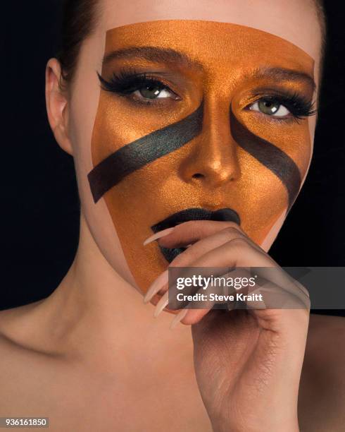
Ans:
[[[201,133],[203,103],[184,119],[149,133],[113,152],[87,178],[96,203],[104,193],[137,169],[181,148]]]

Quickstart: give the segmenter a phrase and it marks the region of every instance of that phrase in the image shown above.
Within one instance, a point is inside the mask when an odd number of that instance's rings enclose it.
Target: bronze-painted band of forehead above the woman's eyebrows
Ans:
[[[183,59],[194,66],[208,64],[212,68],[227,64],[228,67],[245,67],[270,64],[296,68],[313,76],[314,61],[302,49],[287,40],[268,32],[230,23],[199,20],[157,20],[113,28],[106,32],[105,59],[112,55],[121,58],[135,57],[136,47],[146,49],[144,60],[174,61],[174,56],[164,54],[182,53]],[[158,49],[161,49],[161,55]],[[187,64],[187,66],[190,66]]]

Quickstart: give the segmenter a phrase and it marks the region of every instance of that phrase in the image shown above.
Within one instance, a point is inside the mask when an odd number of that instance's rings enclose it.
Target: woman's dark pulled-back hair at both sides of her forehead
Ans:
[[[323,0],[313,0],[322,33],[322,57],[325,51],[326,19]],[[92,34],[99,18],[99,0],[65,0],[63,4],[62,44],[57,55],[61,64],[61,82],[70,83],[75,75],[82,42]]]

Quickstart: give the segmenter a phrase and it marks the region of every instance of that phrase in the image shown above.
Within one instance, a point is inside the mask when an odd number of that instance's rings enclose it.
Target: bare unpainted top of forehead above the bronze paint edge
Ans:
[[[268,32],[320,58],[321,32],[313,0],[103,0],[99,31],[154,20],[233,23]]]

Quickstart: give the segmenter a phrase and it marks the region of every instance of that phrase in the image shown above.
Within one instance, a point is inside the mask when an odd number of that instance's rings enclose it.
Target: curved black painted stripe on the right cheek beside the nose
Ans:
[[[240,124],[234,116],[231,108],[230,126],[232,138],[234,138],[236,143],[246,150],[246,152],[249,152],[251,156],[255,157],[258,162],[270,169],[270,171],[272,171],[272,173],[282,181],[285,188],[287,188],[289,196],[287,211],[289,211],[301,187],[302,180],[299,167],[297,167],[294,160],[292,160],[285,152],[280,150],[280,148],[277,148],[269,141],[254,135],[245,126]]]

